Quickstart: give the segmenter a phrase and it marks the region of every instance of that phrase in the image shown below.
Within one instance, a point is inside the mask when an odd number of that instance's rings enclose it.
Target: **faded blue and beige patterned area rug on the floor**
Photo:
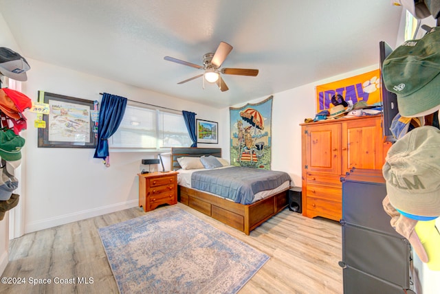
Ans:
[[[269,260],[176,206],[98,232],[120,293],[236,293]]]

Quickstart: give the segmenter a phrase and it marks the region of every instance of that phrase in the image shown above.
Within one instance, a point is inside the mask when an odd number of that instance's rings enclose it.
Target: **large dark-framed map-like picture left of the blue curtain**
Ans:
[[[96,148],[93,101],[39,91],[41,95],[50,113],[43,115],[45,128],[39,128],[39,147]]]

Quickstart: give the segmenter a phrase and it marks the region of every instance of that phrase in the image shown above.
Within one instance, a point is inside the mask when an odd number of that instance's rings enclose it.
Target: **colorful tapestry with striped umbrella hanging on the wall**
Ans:
[[[272,158],[272,99],[243,107],[230,107],[232,166],[270,170]]]

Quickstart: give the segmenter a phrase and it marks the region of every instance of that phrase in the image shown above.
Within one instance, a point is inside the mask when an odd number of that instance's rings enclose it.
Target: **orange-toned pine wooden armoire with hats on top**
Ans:
[[[301,124],[303,215],[342,218],[340,178],[353,168],[382,170],[390,142],[382,116],[342,117]]]

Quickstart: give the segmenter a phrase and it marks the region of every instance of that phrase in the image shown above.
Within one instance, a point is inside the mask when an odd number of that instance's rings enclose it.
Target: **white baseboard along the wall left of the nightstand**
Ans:
[[[91,210],[83,210],[80,212],[74,212],[72,214],[65,214],[63,216],[56,216],[54,218],[46,218],[36,221],[34,223],[26,224],[25,234],[32,233],[33,231],[40,231],[41,229],[56,227],[57,225],[65,225],[66,223],[72,223],[74,221],[83,220],[86,218],[92,218],[94,216],[102,216],[102,214],[110,214],[112,212],[118,212],[120,210],[127,210],[131,207],[137,207],[137,205],[139,205],[139,201],[136,199],[122,203],[97,207]]]

